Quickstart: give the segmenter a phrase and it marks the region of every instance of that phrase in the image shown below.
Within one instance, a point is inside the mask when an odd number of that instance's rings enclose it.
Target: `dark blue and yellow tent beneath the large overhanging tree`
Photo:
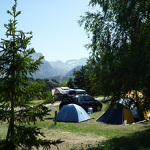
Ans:
[[[140,91],[128,91],[125,98],[116,102],[114,106],[109,105],[96,122],[128,124],[150,118],[150,98]]]

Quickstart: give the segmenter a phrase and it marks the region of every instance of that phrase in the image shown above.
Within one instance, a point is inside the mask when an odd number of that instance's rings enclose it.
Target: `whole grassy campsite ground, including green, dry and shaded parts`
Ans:
[[[49,107],[51,114],[44,121],[37,122],[50,140],[61,139],[58,145],[61,150],[149,150],[150,121],[130,125],[108,125],[95,122],[104,112],[106,104],[100,112],[90,114],[91,120],[71,123],[57,122],[54,126],[55,111],[58,106]],[[7,124],[0,124],[0,138],[6,135]],[[52,147],[52,150],[56,149]]]

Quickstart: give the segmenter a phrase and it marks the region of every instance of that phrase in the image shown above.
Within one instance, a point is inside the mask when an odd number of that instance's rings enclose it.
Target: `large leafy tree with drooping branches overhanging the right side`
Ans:
[[[89,71],[114,99],[129,90],[150,96],[150,0],[91,0],[80,25],[91,38]],[[92,78],[92,77],[91,77]]]

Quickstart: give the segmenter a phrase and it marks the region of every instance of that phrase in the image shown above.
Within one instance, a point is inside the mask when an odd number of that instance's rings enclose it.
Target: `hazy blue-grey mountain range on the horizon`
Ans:
[[[37,60],[42,53],[32,54],[32,58]],[[55,78],[58,76],[72,76],[73,70],[80,70],[81,66],[86,65],[87,58],[83,57],[81,59],[71,59],[66,62],[58,61],[47,61],[42,60],[43,64],[39,67],[39,71],[33,74],[33,78]]]

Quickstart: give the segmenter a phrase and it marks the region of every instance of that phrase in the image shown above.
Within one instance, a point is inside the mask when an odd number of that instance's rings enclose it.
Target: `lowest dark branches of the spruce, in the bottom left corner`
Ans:
[[[51,148],[51,145],[61,143],[60,140],[57,141],[48,141],[38,139],[38,136],[44,137],[43,133],[40,132],[40,128],[37,127],[27,127],[27,126],[18,126],[15,128],[15,134],[11,137],[11,140],[5,143],[5,141],[0,141],[0,149],[2,150],[13,150],[13,149],[22,149],[28,150],[32,149],[33,145],[35,148],[43,146],[43,149],[47,150]]]

